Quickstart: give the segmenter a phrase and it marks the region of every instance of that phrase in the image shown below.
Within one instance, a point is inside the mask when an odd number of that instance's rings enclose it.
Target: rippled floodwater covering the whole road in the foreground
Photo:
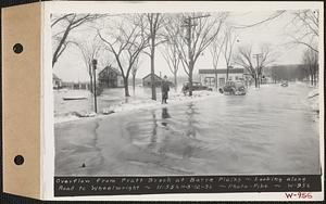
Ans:
[[[247,95],[55,125],[55,175],[319,174],[311,89],[262,86]]]

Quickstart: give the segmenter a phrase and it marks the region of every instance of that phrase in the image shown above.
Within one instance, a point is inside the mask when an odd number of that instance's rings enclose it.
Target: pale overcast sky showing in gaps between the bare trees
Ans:
[[[263,21],[268,17],[271,12],[231,12],[227,18],[229,25],[251,25],[256,22]],[[287,12],[279,17],[268,21],[264,24],[253,26],[250,28],[236,29],[237,41],[235,43],[234,53],[236,53],[237,47],[252,44],[253,53],[259,53],[259,47],[264,43],[271,44],[273,51],[277,53],[277,59],[274,64],[298,64],[301,63],[302,51],[304,47],[288,44],[288,29],[287,26],[292,18],[290,12]],[[53,30],[55,33],[55,30]],[[90,38],[95,35],[91,28],[80,27],[74,33],[70,34],[70,37],[83,40],[84,38]],[[172,77],[172,73],[161,54],[162,47],[156,49],[155,53],[155,74],[167,75]],[[137,72],[137,78],[142,78],[150,73],[150,59],[148,55],[142,54],[140,56],[140,66]],[[114,64],[114,62],[113,62]],[[221,55],[218,61],[218,68],[225,68],[226,63]],[[103,68],[98,67],[99,71]],[[212,56],[206,49],[196,63],[195,74],[200,68],[213,68]],[[59,59],[58,63],[53,67],[53,73],[63,81],[88,81],[89,76],[85,66],[82,52],[76,47],[68,47]],[[186,76],[184,68],[180,66],[178,76]]]

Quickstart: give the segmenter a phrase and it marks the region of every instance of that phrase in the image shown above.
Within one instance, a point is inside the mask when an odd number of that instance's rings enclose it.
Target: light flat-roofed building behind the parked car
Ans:
[[[226,68],[225,69],[199,69],[200,81],[209,87],[215,85],[215,73],[217,74],[217,86],[222,87],[226,82]],[[243,80],[244,68],[229,68],[228,80]]]

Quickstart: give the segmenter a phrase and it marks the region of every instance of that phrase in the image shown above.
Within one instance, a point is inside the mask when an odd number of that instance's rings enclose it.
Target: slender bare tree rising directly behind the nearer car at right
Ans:
[[[228,81],[228,72],[231,64],[234,46],[236,42],[237,36],[231,27],[227,27],[224,31],[224,43],[222,47],[223,55],[226,64],[226,81]]]

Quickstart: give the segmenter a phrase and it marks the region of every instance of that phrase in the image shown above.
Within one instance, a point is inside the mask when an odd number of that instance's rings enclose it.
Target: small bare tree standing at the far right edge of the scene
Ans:
[[[317,85],[317,73],[318,73],[318,53],[308,48],[303,52],[302,61],[309,69],[310,81],[312,86]]]

